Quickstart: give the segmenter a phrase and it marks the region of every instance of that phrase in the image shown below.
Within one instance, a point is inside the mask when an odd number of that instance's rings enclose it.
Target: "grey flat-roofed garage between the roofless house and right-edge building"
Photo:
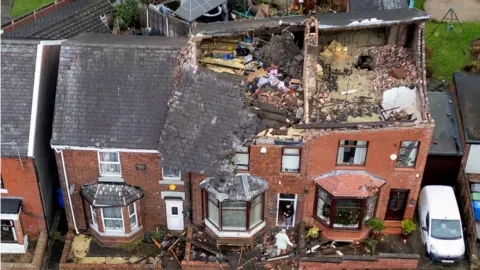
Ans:
[[[428,92],[430,114],[435,120],[422,186],[457,185],[463,157],[456,100],[450,92]]]

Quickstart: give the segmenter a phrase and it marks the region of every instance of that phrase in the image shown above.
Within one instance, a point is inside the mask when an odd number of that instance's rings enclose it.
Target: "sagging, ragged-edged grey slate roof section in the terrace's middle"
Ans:
[[[162,164],[208,176],[234,175],[235,148],[255,135],[243,77],[184,67],[160,138]]]

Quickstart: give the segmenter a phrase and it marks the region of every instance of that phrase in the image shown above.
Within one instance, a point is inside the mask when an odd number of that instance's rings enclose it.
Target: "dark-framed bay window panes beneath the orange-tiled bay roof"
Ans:
[[[361,229],[374,217],[377,195],[367,198],[334,197],[317,185],[316,217],[329,228]]]

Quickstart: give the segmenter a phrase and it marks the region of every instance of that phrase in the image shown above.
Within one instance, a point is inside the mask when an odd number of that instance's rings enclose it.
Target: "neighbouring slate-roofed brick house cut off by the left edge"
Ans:
[[[52,229],[58,176],[50,137],[59,42],[2,38],[1,252]],[[50,231],[51,232],[51,231]]]

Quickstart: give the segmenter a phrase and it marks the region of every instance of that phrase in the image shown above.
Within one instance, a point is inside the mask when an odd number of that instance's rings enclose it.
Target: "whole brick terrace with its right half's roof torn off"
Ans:
[[[433,128],[428,19],[360,11],[197,25],[188,43],[67,41],[52,147],[70,225],[109,243],[191,222],[231,242],[287,225],[290,205],[293,224],[329,239],[365,238],[374,216],[399,233]]]

